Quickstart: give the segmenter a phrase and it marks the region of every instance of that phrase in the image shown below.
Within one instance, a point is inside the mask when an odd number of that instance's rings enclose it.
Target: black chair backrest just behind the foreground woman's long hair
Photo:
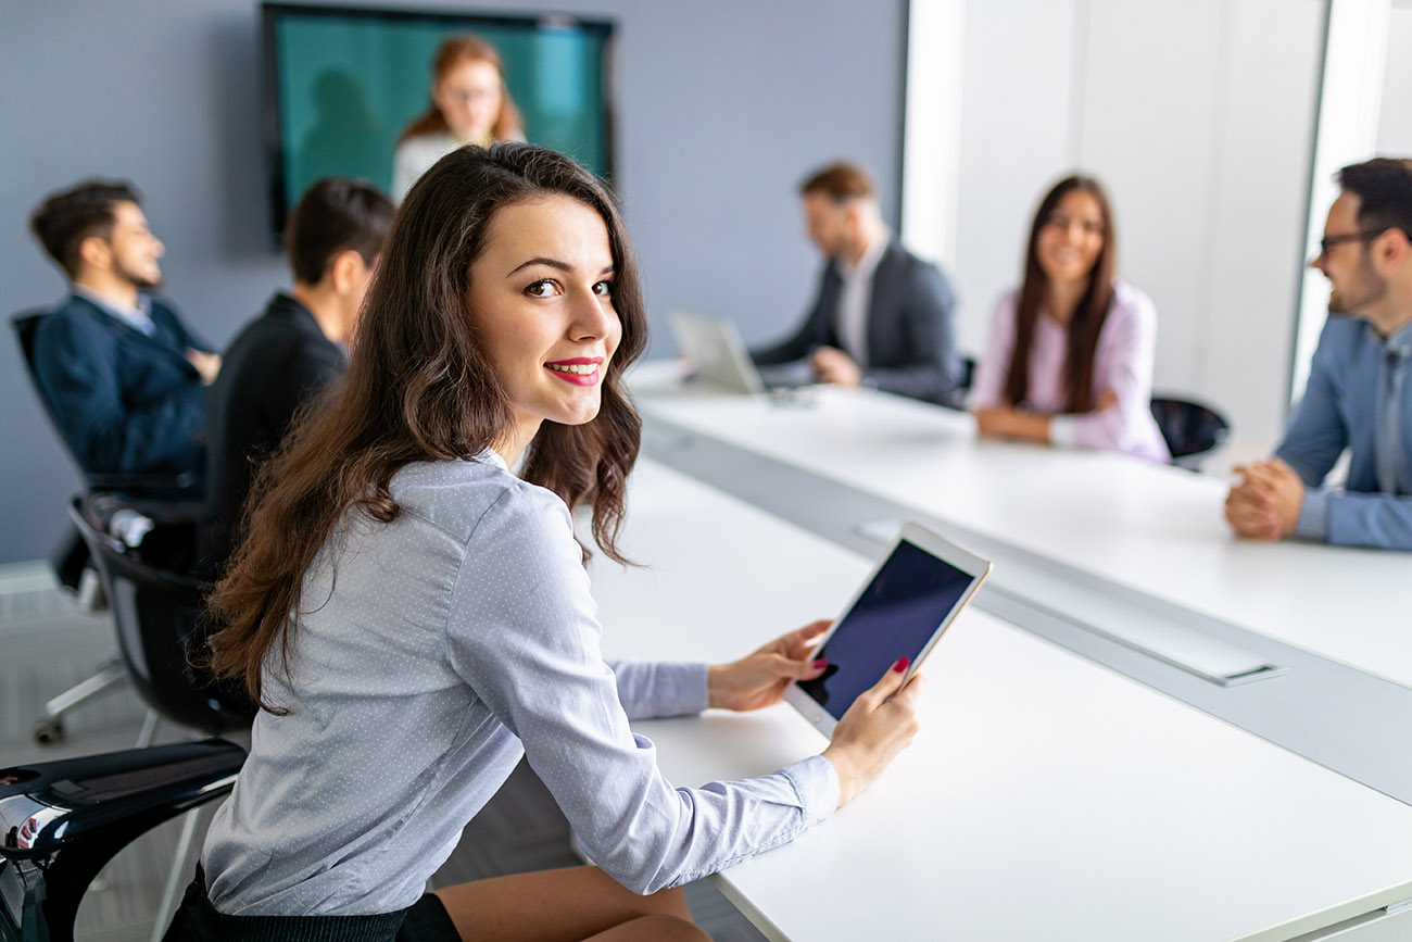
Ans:
[[[96,501],[107,503],[95,507]],[[202,614],[208,586],[154,559],[162,549],[161,530],[137,548],[109,535],[119,511],[137,513],[112,496],[75,497],[69,507],[103,578],[119,648],[137,692],[162,716],[206,733],[249,726],[254,708],[243,691],[216,685],[189,657],[205,644],[209,630]],[[191,539],[189,530],[178,528],[168,545],[179,552]]]

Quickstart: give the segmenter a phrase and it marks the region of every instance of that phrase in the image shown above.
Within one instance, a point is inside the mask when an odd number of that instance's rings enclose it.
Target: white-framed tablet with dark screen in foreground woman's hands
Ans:
[[[898,658],[909,658],[904,684],[990,575],[990,561],[945,537],[907,524],[819,645],[829,667],[785,688],[785,699],[825,736],[858,693]]]

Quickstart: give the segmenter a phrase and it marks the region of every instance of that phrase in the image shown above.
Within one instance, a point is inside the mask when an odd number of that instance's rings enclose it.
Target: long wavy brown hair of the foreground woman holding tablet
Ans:
[[[215,619],[210,669],[241,684],[264,709],[282,712],[261,698],[263,669],[278,664],[288,676],[305,572],[326,545],[336,565],[345,514],[391,523],[400,508],[388,484],[400,467],[466,459],[510,429],[505,390],[466,306],[470,267],[496,212],[549,193],[603,217],[623,338],[603,377],[597,417],[583,425],[545,421],[525,451],[521,476],[569,507],[592,503],[593,539],[626,562],[616,539],[641,421],[623,371],[647,345],[627,230],[603,184],[568,157],[517,143],[462,147],[407,195],[359,319],[349,371],[305,410],[258,473],[244,538],[208,600]],[[275,650],[278,660],[270,657]]]

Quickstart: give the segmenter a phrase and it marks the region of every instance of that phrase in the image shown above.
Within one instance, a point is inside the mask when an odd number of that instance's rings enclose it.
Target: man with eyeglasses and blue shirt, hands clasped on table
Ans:
[[[1412,161],[1344,167],[1319,256],[1329,322],[1275,458],[1238,467],[1241,537],[1412,549]],[[1350,451],[1343,489],[1324,486]]]

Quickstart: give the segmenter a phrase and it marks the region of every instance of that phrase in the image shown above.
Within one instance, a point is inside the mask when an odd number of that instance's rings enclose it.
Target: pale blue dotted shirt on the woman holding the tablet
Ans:
[[[822,756],[674,788],[628,717],[706,708],[700,664],[604,662],[563,501],[494,452],[391,482],[345,518],[304,586],[289,684],[274,660],[250,758],[202,861],[229,915],[402,910],[521,756],[585,853],[635,893],[714,873],[833,812]],[[335,559],[330,547],[340,547]],[[671,626],[664,626],[671,630]]]

